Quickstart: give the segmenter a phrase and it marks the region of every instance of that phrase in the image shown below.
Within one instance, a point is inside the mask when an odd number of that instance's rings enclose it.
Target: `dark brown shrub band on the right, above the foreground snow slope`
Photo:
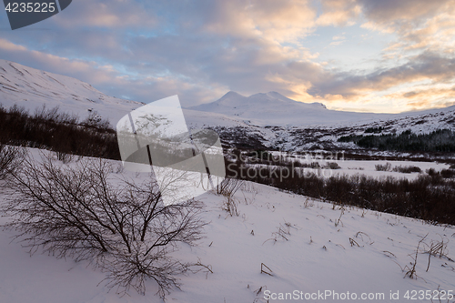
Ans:
[[[235,151],[233,151],[235,153]],[[414,180],[396,177],[333,176],[305,171],[292,164],[265,167],[226,159],[228,177],[237,177],[298,195],[362,207],[432,224],[455,224],[455,170],[430,171]],[[406,168],[405,170],[408,170]],[[416,170],[410,168],[410,170]],[[450,171],[450,172],[449,172]],[[324,175],[324,174],[322,174]]]

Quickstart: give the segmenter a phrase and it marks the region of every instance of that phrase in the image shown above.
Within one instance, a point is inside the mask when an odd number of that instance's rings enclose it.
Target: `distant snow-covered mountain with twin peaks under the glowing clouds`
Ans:
[[[242,96],[232,91],[215,102],[191,106],[188,109],[236,116],[256,126],[353,126],[455,112],[455,106],[402,114],[345,112],[330,110],[321,103],[298,102],[277,92]]]

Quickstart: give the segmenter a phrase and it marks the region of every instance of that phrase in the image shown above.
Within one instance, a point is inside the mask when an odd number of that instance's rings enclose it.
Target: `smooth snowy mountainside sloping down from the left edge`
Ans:
[[[106,96],[93,86],[69,76],[56,75],[28,66],[0,60],[0,102],[9,107],[24,106],[33,113],[36,107],[59,106],[81,118],[96,111],[115,125],[140,102]]]

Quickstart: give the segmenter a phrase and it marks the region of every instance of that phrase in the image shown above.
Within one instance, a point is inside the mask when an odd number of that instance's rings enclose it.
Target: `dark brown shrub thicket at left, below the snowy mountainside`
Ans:
[[[87,157],[120,159],[116,131],[95,112],[83,121],[45,106],[28,113],[0,106],[0,144],[29,146]]]

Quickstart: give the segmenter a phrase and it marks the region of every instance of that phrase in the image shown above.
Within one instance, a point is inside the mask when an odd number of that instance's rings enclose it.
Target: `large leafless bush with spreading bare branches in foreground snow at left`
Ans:
[[[68,167],[52,157],[39,163],[26,157],[10,181],[15,194],[3,207],[11,217],[5,227],[17,230],[31,253],[43,248],[57,258],[86,259],[123,293],[144,294],[146,280],[155,280],[164,298],[191,266],[168,253],[201,237],[202,206],[195,200],[165,206],[156,182],[136,184],[112,170],[102,159]]]

